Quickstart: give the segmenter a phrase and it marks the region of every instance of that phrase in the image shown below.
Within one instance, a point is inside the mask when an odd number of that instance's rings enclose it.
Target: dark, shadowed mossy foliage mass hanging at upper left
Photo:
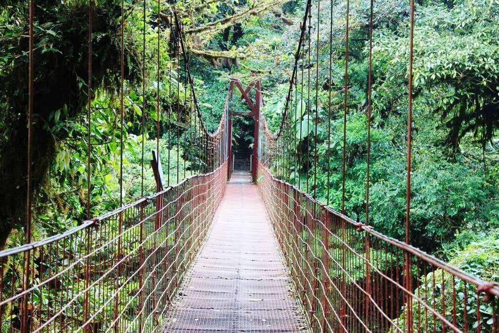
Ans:
[[[24,221],[26,178],[21,170],[27,165],[27,86],[28,54],[27,4],[6,1],[0,9],[0,247],[12,227]],[[42,10],[40,10],[40,8]],[[93,76],[95,90],[101,87],[114,93],[120,72],[118,1],[100,1],[94,12]],[[35,192],[44,184],[59,142],[81,138],[82,113],[87,104],[88,1],[37,1],[33,51],[33,146],[31,184]],[[129,82],[138,80],[138,52],[131,35],[125,34],[124,75]],[[98,57],[97,57],[98,55]],[[84,142],[83,140],[81,142]],[[63,147],[66,151],[65,147]],[[83,150],[84,151],[84,150]],[[79,152],[60,153],[58,170],[67,167],[69,157],[81,159]],[[76,155],[76,156],[75,156]]]

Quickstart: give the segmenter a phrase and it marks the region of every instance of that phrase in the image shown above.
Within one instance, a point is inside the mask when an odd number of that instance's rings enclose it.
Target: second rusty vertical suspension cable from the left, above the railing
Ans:
[[[90,158],[92,151],[91,139],[91,106],[92,106],[92,20],[93,20],[93,0],[88,1],[88,109],[87,109],[87,219],[90,218],[90,179],[92,172],[90,170]]]

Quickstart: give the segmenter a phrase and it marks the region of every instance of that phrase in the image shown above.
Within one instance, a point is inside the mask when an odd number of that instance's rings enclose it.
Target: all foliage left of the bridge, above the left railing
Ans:
[[[35,10],[33,160],[36,163],[32,176],[36,194],[33,207],[35,240],[67,230],[87,218],[88,172],[91,176],[89,214],[97,216],[117,207],[117,178],[122,150],[124,200],[127,202],[140,196],[137,188],[140,177],[137,176],[140,176],[141,167],[133,159],[141,149],[143,131],[146,140],[154,140],[154,136],[164,137],[162,148],[165,152],[167,147],[171,150],[172,183],[181,179],[191,168],[191,164],[184,160],[186,156],[183,156],[187,141],[183,141],[181,148],[174,147],[178,146],[179,137],[184,132],[184,127],[177,124],[188,121],[190,91],[182,82],[184,78],[178,76],[177,64],[170,59],[167,42],[160,43],[159,61],[164,70],[158,82],[156,45],[158,38],[168,35],[166,29],[158,35],[157,27],[150,24],[154,6],[146,8],[144,26],[141,5],[125,3],[127,24],[122,128],[119,98],[121,4],[105,0],[95,2],[93,13],[92,134],[90,170],[87,169],[88,1],[49,2],[36,2]],[[10,202],[0,207],[4,222],[0,228],[1,246],[12,227],[14,231],[8,246],[22,244],[23,233],[17,231],[23,225],[26,197],[25,175],[21,171],[25,170],[26,155],[19,154],[19,151],[25,151],[27,139],[26,112],[20,112],[27,108],[27,39],[23,37],[27,34],[27,3],[9,1],[9,4],[0,11],[0,50],[5,55],[0,59],[0,93],[3,97],[0,98],[3,103],[0,107],[0,175],[5,177],[0,187],[2,195],[8,195]],[[146,33],[144,50],[143,29]],[[142,51],[145,59],[142,59]],[[149,61],[153,59],[155,61]],[[145,77],[142,77],[142,69],[145,70]],[[145,95],[141,79],[144,80]],[[179,80],[181,82],[177,86]],[[158,108],[161,111],[159,114]],[[144,127],[141,126],[142,116]],[[123,148],[119,144],[122,131],[125,138]],[[164,142],[168,139],[170,143],[166,145]],[[144,175],[148,181],[152,179],[149,163],[151,147],[152,144],[146,143]],[[161,157],[166,156],[162,154]],[[177,160],[183,168],[179,170],[178,177]],[[163,163],[169,164],[166,160]],[[153,186],[148,181],[145,183],[145,194],[152,193]]]

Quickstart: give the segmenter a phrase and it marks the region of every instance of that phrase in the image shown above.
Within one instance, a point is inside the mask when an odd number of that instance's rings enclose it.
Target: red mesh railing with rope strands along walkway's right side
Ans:
[[[313,332],[499,332],[497,285],[352,221],[261,163],[257,184]]]

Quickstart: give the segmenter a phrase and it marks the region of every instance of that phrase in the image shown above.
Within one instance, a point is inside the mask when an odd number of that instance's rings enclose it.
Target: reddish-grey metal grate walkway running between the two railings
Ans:
[[[163,332],[308,332],[258,189],[234,174]]]

